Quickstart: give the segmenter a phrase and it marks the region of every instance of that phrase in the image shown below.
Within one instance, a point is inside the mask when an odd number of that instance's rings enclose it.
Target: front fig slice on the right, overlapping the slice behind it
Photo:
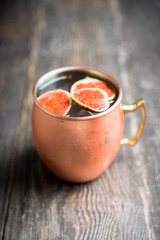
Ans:
[[[82,88],[71,93],[72,99],[80,106],[94,112],[109,108],[107,93],[99,88]]]

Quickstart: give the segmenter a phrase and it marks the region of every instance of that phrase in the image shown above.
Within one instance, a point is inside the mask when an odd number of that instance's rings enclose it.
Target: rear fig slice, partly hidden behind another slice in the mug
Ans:
[[[108,94],[108,100],[112,100],[116,96],[115,89],[110,84],[91,77],[78,80],[72,85],[70,91],[72,93],[82,88],[100,88]]]

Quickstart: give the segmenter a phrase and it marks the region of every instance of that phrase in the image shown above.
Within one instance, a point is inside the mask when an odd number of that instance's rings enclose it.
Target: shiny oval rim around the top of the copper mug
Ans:
[[[101,75],[102,78],[107,79],[109,80],[111,83],[116,84],[116,89],[118,90],[118,98],[116,100],[116,102],[111,106],[109,107],[107,110],[103,111],[103,112],[100,112],[100,113],[97,113],[95,115],[92,115],[92,116],[84,116],[84,117],[67,117],[67,116],[62,116],[62,115],[58,115],[56,113],[52,113],[50,112],[49,110],[45,109],[37,100],[37,97],[36,97],[36,89],[37,89],[37,86],[39,84],[40,81],[42,81],[43,79],[51,76],[51,75],[54,75],[56,73],[63,73],[64,71],[84,71],[84,72],[92,72],[92,73],[95,73],[97,75]],[[84,67],[84,66],[67,66],[67,67],[59,67],[59,68],[55,68],[45,74],[43,74],[37,81],[36,83],[34,84],[33,86],[33,90],[32,90],[32,96],[33,96],[33,100],[34,100],[34,103],[43,111],[45,112],[46,114],[52,116],[52,117],[56,117],[56,118],[59,118],[61,120],[80,120],[80,121],[83,121],[83,120],[91,120],[91,119],[95,119],[95,118],[99,118],[101,116],[104,116],[104,115],[107,115],[108,113],[112,112],[118,105],[119,103],[121,102],[122,100],[122,88],[120,86],[120,84],[118,83],[118,81],[113,78],[111,75],[109,75],[108,73],[102,71],[102,70],[99,70],[99,69],[96,69],[96,68],[93,68],[93,67]]]

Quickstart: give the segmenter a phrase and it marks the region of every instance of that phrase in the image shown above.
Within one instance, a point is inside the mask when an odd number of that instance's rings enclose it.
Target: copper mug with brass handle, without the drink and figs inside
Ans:
[[[63,76],[91,76],[109,81],[117,90],[116,102],[94,116],[67,117],[44,109],[37,97],[50,80]],[[67,80],[65,80],[67,81]],[[58,178],[87,182],[99,177],[112,163],[120,146],[134,146],[146,121],[143,99],[122,104],[122,89],[107,73],[87,67],[63,67],[43,75],[33,88],[32,133],[37,152],[46,167]],[[142,110],[142,120],[133,139],[123,138],[124,114]]]

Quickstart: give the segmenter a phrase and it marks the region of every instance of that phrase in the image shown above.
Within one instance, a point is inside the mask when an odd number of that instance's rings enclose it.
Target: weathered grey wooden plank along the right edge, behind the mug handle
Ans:
[[[133,149],[133,167],[141,181],[145,222],[150,239],[160,238],[159,119],[160,8],[156,1],[120,1],[128,85],[134,97],[144,97],[148,108],[146,130]],[[150,20],[149,20],[150,19]],[[124,83],[125,87],[125,83]],[[132,121],[136,126],[139,117]],[[136,127],[134,127],[136,129]],[[156,139],[156,140],[155,140]]]

